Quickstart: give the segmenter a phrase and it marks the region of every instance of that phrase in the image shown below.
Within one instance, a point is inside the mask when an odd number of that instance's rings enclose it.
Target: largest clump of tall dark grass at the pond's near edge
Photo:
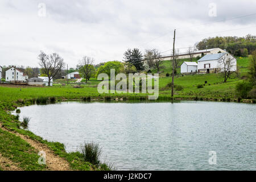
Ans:
[[[80,151],[85,162],[90,162],[97,167],[100,165],[101,148],[98,143],[86,143],[81,145]]]

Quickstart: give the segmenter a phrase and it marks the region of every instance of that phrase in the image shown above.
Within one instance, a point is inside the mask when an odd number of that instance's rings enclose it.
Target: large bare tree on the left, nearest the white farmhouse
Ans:
[[[51,79],[55,77],[55,75],[64,67],[65,63],[63,58],[61,58],[57,53],[52,53],[48,56],[46,53],[41,51],[38,59],[40,60],[39,65],[43,68],[44,73],[48,76],[48,86],[50,86]]]

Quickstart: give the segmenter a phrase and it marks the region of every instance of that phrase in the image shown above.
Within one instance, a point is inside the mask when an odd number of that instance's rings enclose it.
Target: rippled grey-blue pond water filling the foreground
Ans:
[[[253,104],[61,102],[20,110],[20,118],[31,117],[28,130],[69,152],[100,143],[119,170],[256,169]]]

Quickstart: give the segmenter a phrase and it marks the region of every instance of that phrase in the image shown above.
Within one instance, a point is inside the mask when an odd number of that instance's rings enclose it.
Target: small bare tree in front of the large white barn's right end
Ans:
[[[234,75],[233,73],[236,72],[236,59],[232,56],[228,56],[228,54],[224,55],[221,57],[221,59],[218,60],[219,64],[219,69],[221,72],[221,76],[224,78],[224,82],[228,80],[228,78],[233,79],[234,77],[237,76]]]

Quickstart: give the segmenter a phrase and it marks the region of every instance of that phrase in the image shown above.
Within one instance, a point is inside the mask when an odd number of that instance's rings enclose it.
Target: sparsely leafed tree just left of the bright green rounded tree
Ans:
[[[84,56],[82,60],[79,61],[79,72],[84,78],[86,82],[90,80],[96,73],[96,69],[93,66],[94,59],[92,57]]]

